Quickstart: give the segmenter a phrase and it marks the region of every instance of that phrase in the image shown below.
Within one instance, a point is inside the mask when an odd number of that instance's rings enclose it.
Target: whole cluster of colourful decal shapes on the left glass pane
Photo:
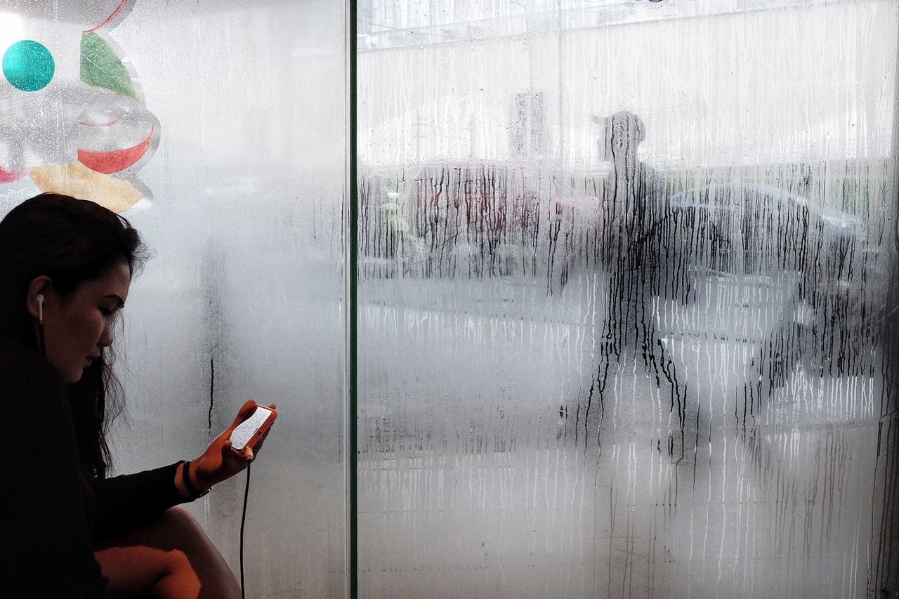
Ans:
[[[0,194],[65,193],[116,211],[148,199],[137,172],[159,121],[107,35],[135,1],[39,0],[4,14]]]

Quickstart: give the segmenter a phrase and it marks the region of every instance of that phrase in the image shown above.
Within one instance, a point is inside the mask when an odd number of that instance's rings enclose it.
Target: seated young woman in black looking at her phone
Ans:
[[[228,440],[199,458],[107,478],[120,410],[112,323],[144,259],[128,220],[41,194],[0,222],[0,580],[15,597],[240,595],[200,526],[175,505],[254,460]],[[120,596],[120,595],[115,595]]]

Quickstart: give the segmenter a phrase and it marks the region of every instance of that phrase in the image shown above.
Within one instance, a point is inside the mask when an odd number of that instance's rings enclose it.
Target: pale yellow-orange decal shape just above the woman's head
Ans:
[[[128,181],[97,173],[80,162],[36,166],[31,169],[31,180],[41,192],[95,201],[116,213],[128,210],[144,195]]]

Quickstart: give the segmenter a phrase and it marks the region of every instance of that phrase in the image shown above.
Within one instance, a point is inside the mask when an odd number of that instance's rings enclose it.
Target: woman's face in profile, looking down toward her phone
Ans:
[[[55,290],[45,294],[45,354],[67,384],[80,380],[100,350],[112,344],[112,317],[128,299],[130,284],[128,264],[122,261],[65,296]]]

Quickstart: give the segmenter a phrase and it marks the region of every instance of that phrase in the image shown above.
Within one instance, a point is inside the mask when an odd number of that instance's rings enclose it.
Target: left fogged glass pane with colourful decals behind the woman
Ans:
[[[0,10],[4,51],[35,40],[55,58],[45,87],[0,88],[4,209],[47,188],[112,202],[155,252],[117,343],[116,469],[194,458],[247,398],[277,404],[246,595],[343,596],[343,4]],[[189,506],[235,571],[244,484]]]

